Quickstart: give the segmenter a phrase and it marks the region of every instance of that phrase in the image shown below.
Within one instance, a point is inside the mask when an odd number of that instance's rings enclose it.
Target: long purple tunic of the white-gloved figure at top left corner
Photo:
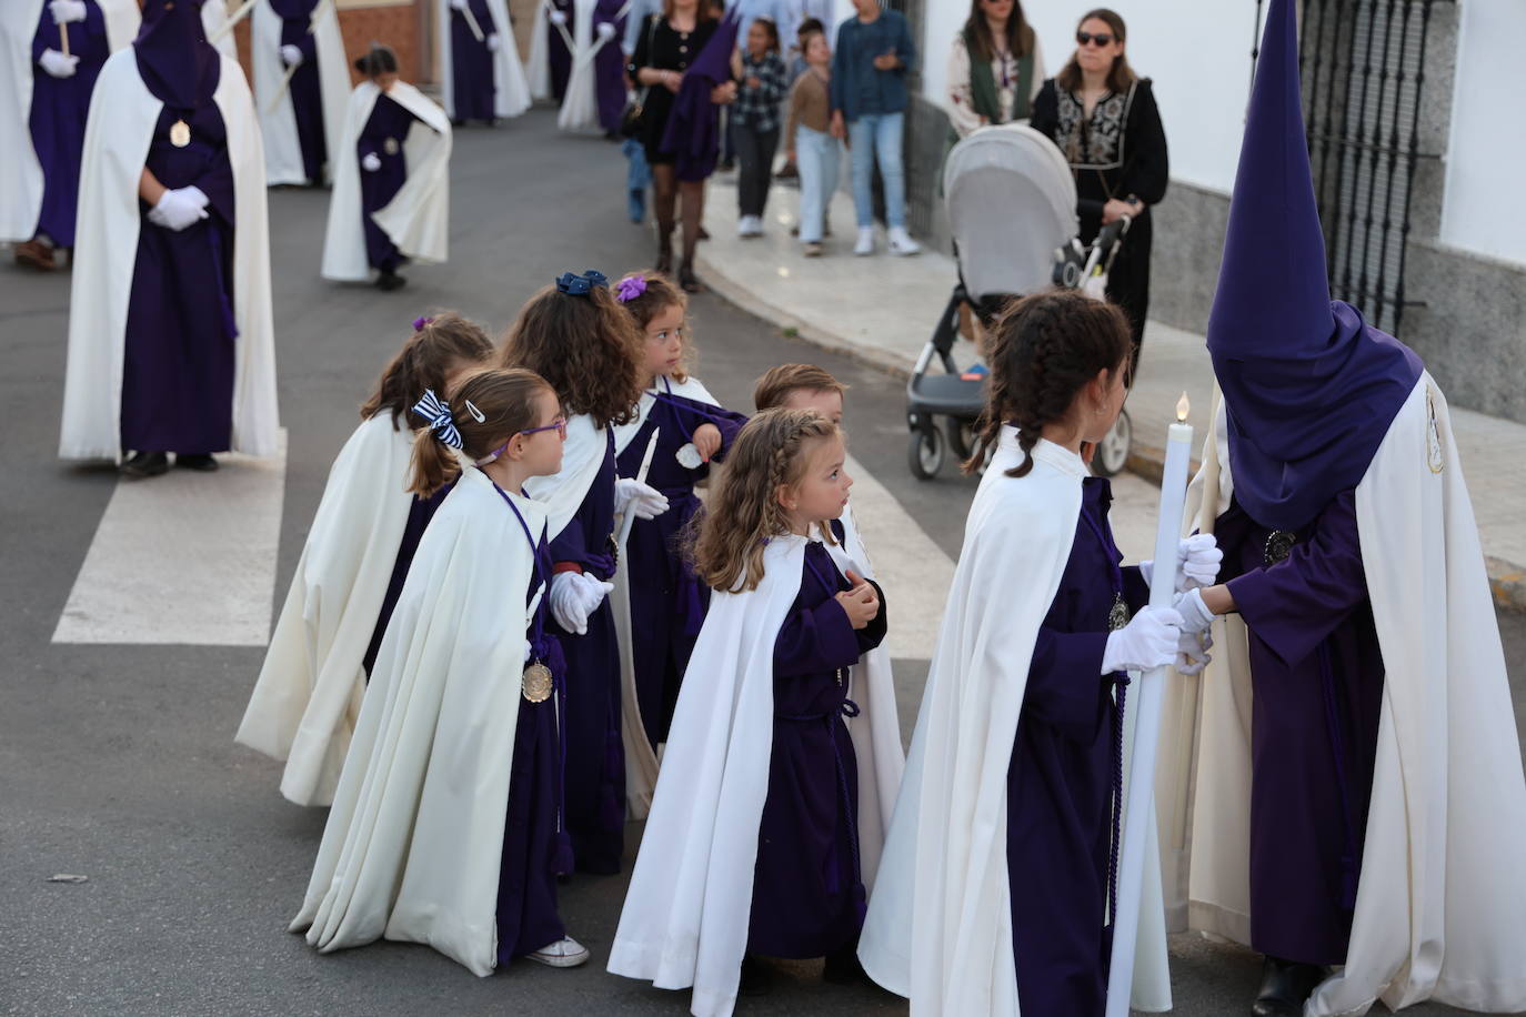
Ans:
[[[85,145],[85,119],[90,93],[101,75],[111,46],[105,35],[105,15],[95,0],[85,0],[85,20],[69,23],[69,52],[79,58],[70,78],[53,78],[37,61],[43,50],[63,52],[60,26],[47,3],[32,35],[32,148],[43,166],[43,206],[37,233],[46,233],[58,247],[75,245],[75,206],[79,203],[79,159]]]

